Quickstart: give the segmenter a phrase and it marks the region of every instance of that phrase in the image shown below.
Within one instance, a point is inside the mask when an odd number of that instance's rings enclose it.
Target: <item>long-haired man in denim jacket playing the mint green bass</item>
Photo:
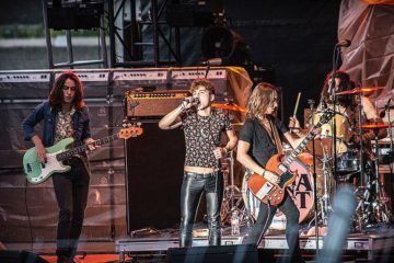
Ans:
[[[34,127],[44,122],[44,130],[38,136]],[[73,137],[76,145],[95,147],[90,134],[88,107],[83,102],[83,87],[77,75],[62,72],[55,81],[49,99],[37,105],[23,121],[25,140],[33,141],[36,158],[46,162],[45,147],[61,139]],[[59,207],[57,226],[57,262],[74,262],[78,240],[82,231],[84,210],[88,202],[90,170],[86,155],[76,156],[65,161],[71,167],[66,173],[53,175],[56,199]]]

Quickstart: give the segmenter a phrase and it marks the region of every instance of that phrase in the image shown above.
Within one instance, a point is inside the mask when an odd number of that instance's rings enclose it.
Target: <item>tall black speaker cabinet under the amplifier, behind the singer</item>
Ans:
[[[128,232],[147,227],[174,228],[185,159],[182,129],[162,130],[142,122],[143,134],[126,141]]]

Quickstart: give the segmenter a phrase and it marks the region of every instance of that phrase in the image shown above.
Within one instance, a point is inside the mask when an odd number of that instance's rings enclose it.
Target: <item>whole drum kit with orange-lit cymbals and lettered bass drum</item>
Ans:
[[[361,95],[362,93],[375,91],[381,88],[359,88],[351,91],[338,92],[337,95]],[[361,101],[361,100],[360,100]],[[359,103],[362,110],[361,103]],[[227,111],[245,112],[242,106],[233,104],[212,104],[213,107]],[[311,117],[305,123],[314,125],[322,116],[318,110],[313,111],[313,103],[310,103]],[[383,180],[379,174],[379,144],[378,132],[381,128],[394,127],[393,124],[385,123],[351,123],[349,115],[344,111],[335,111],[335,116],[328,124],[322,126],[322,132],[306,147],[308,150],[302,152],[302,159],[315,157],[316,161],[316,180],[313,180],[312,168],[305,165],[299,160],[291,163],[291,170],[298,170],[299,176],[289,186],[288,193],[292,197],[294,204],[300,210],[300,224],[312,224],[316,218],[314,210],[317,208],[317,222],[320,226],[326,227],[328,215],[332,211],[332,197],[336,188],[341,184],[355,184],[357,186],[356,196],[358,205],[354,216],[354,230],[364,230],[378,227],[381,224],[393,222],[393,213],[391,207],[391,198],[387,197]],[[334,124],[335,123],[335,124]],[[333,128],[334,127],[334,128]],[[372,160],[362,161],[362,146],[349,144],[349,130],[355,133],[364,133],[373,130],[375,134],[375,150]],[[360,135],[360,134],[359,134]],[[312,152],[314,148],[314,152]],[[285,145],[285,155],[291,151],[291,147]],[[313,157],[314,153],[314,157]],[[301,158],[300,158],[301,159]],[[333,161],[335,160],[335,161]],[[393,162],[393,160],[391,161]],[[230,220],[234,209],[240,210],[240,219],[242,224],[250,226],[258,214],[260,201],[253,196],[247,188],[247,179],[250,173],[245,171],[242,180],[241,190],[234,183],[234,159],[233,153],[229,153],[229,181],[227,183],[224,198],[222,203],[221,218],[227,224]],[[314,182],[316,182],[316,204],[314,199]],[[285,229],[286,218],[277,213],[270,229]]]

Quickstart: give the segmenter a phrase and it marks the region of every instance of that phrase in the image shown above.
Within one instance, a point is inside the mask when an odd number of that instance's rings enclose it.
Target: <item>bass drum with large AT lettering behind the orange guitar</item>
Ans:
[[[302,160],[312,160],[312,156],[308,152],[303,152],[299,155],[299,158]],[[287,187],[288,193],[293,199],[296,206],[300,210],[299,222],[304,224],[308,222],[314,214],[314,199],[313,199],[313,176],[310,172],[308,165],[301,162],[299,159],[296,159],[290,164],[291,171],[298,171],[299,176],[297,176],[296,181]],[[252,192],[247,188],[247,180],[251,173],[247,171],[242,180],[242,196],[245,204],[246,209],[250,209],[251,216],[254,220],[257,219],[260,201],[256,198]],[[321,182],[320,176],[317,176],[317,192],[320,192],[320,186],[323,182]],[[286,227],[286,218],[282,213],[278,209],[270,229],[282,230]]]

